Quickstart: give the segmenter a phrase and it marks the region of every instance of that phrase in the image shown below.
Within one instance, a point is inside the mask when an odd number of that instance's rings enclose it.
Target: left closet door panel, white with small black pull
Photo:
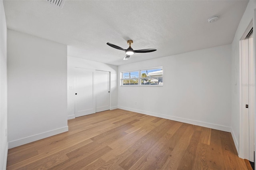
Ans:
[[[75,68],[75,117],[95,113],[93,70]]]

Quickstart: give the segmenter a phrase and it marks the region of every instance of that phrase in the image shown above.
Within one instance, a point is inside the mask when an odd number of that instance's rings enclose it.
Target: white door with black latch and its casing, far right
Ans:
[[[240,136],[239,156],[254,162],[254,54],[253,38],[240,41]]]

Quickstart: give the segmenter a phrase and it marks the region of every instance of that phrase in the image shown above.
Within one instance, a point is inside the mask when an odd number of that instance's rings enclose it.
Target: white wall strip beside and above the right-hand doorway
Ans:
[[[232,81],[231,81],[231,99],[232,99],[232,123],[231,123],[231,133],[234,139],[234,143],[236,145],[236,149],[238,150],[239,145],[239,130],[240,130],[240,81],[239,81],[239,41],[242,38],[246,28],[250,24],[253,15],[254,9],[256,8],[256,1],[250,0],[247,8],[240,20],[238,28],[236,30],[236,34],[234,36],[234,40],[232,42],[232,57],[231,57],[231,73],[232,73]],[[236,85],[235,85],[236,81]]]

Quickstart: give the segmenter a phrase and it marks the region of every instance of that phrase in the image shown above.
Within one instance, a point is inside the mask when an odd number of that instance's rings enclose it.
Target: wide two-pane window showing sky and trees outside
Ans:
[[[162,86],[163,69],[162,67],[142,69],[138,71],[122,72],[122,85],[136,86]]]

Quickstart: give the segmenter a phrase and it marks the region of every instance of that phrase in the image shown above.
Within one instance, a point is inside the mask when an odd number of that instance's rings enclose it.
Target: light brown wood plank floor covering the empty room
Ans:
[[[247,170],[228,132],[121,109],[8,150],[7,170]]]

